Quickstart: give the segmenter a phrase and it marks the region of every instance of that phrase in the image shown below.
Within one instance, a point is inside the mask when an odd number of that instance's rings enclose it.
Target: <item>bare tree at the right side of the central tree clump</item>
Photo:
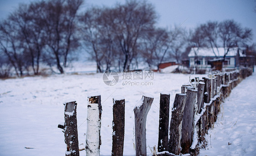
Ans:
[[[118,4],[109,13],[111,32],[124,55],[123,70],[128,70],[138,55],[139,39],[154,27],[157,15],[153,5],[135,0],[126,1],[124,5]]]

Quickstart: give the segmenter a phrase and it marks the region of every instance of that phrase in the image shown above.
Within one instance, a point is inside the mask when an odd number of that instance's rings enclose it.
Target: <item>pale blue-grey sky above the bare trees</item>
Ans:
[[[19,3],[33,0],[0,0],[0,20],[5,19]],[[82,9],[92,5],[113,6],[125,0],[86,0]],[[182,25],[194,28],[211,21],[233,19],[243,27],[253,30],[253,42],[256,43],[256,0],[148,0],[159,14],[158,25],[171,27]]]

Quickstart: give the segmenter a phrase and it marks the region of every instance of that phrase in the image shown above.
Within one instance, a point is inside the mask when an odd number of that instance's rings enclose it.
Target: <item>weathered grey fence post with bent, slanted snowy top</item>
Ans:
[[[147,156],[146,146],[146,121],[148,111],[153,103],[154,97],[151,95],[143,95],[134,107],[135,119],[135,150],[136,156]]]

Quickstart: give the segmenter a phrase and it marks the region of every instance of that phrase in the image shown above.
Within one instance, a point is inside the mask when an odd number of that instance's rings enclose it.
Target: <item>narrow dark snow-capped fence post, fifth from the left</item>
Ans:
[[[169,110],[170,110],[170,93],[162,91],[160,94],[159,109],[159,135],[158,151],[168,151],[168,132],[169,132]]]

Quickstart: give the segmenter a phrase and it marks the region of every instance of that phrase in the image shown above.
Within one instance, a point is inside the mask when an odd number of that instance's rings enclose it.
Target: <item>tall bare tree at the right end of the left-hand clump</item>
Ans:
[[[73,34],[75,17],[81,4],[82,0],[50,0],[42,11],[47,49],[52,52],[61,74],[64,73],[61,62],[66,66],[71,48],[74,50],[78,47],[78,40]]]

